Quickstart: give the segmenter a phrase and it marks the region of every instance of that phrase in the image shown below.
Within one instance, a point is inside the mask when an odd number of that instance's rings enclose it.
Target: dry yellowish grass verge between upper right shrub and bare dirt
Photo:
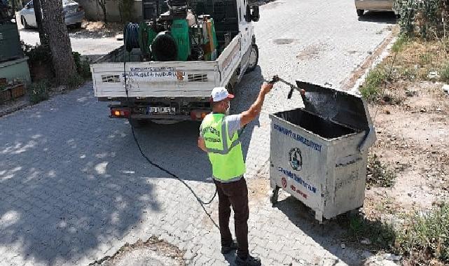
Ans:
[[[370,102],[400,104],[404,81],[448,81],[448,41],[398,38],[391,54],[368,73],[360,92]]]

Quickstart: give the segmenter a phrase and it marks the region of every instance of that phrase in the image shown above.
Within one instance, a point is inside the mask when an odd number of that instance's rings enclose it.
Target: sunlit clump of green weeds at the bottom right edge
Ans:
[[[415,211],[399,230],[396,246],[401,253],[417,255],[418,260],[430,255],[449,262],[449,204]]]

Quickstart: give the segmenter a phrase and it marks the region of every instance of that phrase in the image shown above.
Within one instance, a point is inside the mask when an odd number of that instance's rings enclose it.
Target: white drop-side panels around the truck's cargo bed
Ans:
[[[214,61],[107,62],[123,52],[120,47],[91,64],[95,97],[209,97],[212,88],[228,85],[247,49],[240,33]]]

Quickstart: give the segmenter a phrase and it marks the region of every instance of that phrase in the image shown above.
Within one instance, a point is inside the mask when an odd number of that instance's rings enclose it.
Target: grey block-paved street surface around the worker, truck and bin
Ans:
[[[389,34],[392,15],[358,20],[352,0],[285,0],[261,7],[260,61],[233,111],[279,74],[338,86]],[[264,265],[358,265],[337,226],[320,226],[298,201],[268,202],[268,113],[300,106],[276,85],[243,137],[250,193],[249,239]],[[110,120],[92,84],[0,118],[0,265],[88,265],[126,242],[157,236],[185,250],[188,265],[233,265],[219,231],[179,181],[141,158],[130,126]],[[151,160],[182,176],[203,199],[214,193],[198,124],[150,125],[137,138]],[[218,223],[217,200],[206,207]],[[366,252],[365,252],[366,253]]]

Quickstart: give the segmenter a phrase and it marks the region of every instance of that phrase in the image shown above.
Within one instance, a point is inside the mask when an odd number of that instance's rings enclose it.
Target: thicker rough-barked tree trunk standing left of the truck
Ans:
[[[62,0],[41,0],[43,28],[48,36],[57,83],[67,84],[76,75],[67,26],[62,17]]]

